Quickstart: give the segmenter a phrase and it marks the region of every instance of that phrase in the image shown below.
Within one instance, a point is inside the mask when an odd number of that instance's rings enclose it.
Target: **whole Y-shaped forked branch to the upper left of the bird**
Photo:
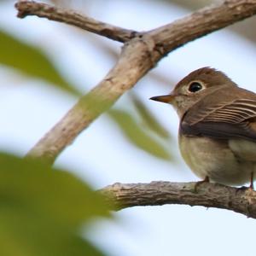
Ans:
[[[40,8],[34,9],[34,6]],[[67,21],[68,24],[71,24],[70,20],[73,20],[73,16],[77,16],[77,13],[71,11],[50,8],[49,5],[45,7],[44,3],[31,1],[16,3],[16,8],[19,9],[19,15],[22,17],[44,14],[48,18],[58,17],[55,20]],[[256,0],[226,0],[150,32],[135,33],[131,36],[133,32],[129,31],[125,38],[120,36],[122,29],[113,27],[113,31],[108,31],[106,35],[101,29],[92,29],[86,23],[88,18],[85,18],[83,23],[83,18],[79,15],[79,22],[73,22],[73,25],[108,38],[121,38],[120,40],[126,41],[125,47],[122,49],[119,61],[106,78],[88,95],[82,97],[66,116],[32,148],[28,156],[53,163],[58,154],[72,143],[81,131],[101,113],[108,110],[126,90],[130,90],[164,55],[195,38],[200,38],[254,14],[256,14]],[[65,15],[67,20],[64,19]],[[108,29],[111,30],[110,26]],[[131,40],[127,41],[129,37]]]

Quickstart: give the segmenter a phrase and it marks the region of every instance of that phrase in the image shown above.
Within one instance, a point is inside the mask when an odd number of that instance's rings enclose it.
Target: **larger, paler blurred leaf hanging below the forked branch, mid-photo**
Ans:
[[[148,154],[164,160],[171,159],[166,148],[155,140],[154,137],[150,137],[146,131],[143,131],[143,128],[137,124],[130,113],[124,110],[111,109],[108,114],[119,125],[121,131],[123,131],[125,137],[131,143],[148,152]]]

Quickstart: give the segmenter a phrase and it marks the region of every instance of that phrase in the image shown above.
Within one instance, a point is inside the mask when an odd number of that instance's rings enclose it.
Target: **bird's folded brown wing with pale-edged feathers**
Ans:
[[[219,139],[241,137],[256,142],[256,99],[236,99],[185,114],[181,131]]]

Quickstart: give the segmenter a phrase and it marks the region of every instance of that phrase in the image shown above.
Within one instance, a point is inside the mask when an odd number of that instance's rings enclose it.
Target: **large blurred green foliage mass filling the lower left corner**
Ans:
[[[0,154],[0,254],[103,255],[79,236],[91,218],[110,216],[78,177],[35,160]]]

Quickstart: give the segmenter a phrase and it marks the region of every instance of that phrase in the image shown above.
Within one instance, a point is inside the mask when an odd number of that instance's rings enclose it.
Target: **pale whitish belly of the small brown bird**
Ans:
[[[253,154],[250,154],[250,159],[242,158],[245,153],[238,140],[228,143],[207,137],[179,137],[183,159],[196,176],[228,185],[241,185],[250,180],[251,172],[256,170],[256,144],[253,146],[255,160]],[[247,151],[251,152],[248,147]]]

